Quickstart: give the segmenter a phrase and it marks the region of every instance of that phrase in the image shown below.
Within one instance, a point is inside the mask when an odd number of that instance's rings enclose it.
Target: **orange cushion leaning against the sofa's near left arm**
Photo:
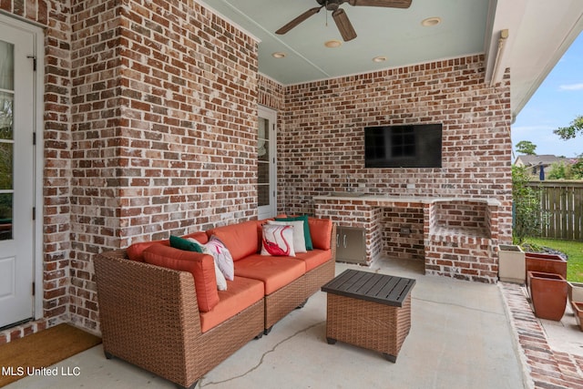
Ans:
[[[210,255],[153,244],[144,251],[144,261],[175,271],[189,271],[194,277],[200,312],[209,312],[219,303],[215,262]]]

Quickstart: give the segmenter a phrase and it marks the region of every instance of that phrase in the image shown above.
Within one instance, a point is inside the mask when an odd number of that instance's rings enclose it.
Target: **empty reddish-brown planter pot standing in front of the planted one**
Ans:
[[[528,271],[528,289],[535,316],[561,320],[567,308],[567,280],[560,274]]]

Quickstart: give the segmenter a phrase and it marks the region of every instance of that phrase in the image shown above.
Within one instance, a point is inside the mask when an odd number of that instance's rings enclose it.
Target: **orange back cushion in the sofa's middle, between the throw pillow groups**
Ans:
[[[229,226],[208,230],[208,236],[216,236],[225,244],[233,261],[239,261],[258,251],[257,221],[243,221]]]

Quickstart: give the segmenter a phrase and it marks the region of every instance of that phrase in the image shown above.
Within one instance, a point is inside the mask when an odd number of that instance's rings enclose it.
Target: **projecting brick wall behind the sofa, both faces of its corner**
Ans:
[[[257,45],[193,1],[73,6],[71,320],[91,258],[256,217]]]

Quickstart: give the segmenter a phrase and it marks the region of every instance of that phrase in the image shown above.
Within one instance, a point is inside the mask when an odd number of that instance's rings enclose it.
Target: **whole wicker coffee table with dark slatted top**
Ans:
[[[327,292],[326,339],[378,351],[396,362],[411,328],[415,280],[368,271],[343,271]]]

